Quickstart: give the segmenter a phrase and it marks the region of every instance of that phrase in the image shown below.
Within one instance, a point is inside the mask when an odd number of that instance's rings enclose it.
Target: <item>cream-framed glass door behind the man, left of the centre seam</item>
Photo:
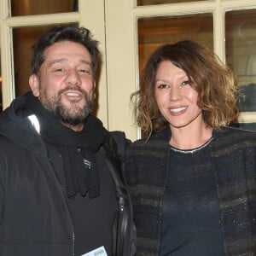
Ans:
[[[1,0],[0,19],[1,107],[7,108],[16,96],[30,90],[28,78],[31,74],[32,44],[42,33],[52,26],[87,26],[96,40],[101,42],[102,67],[96,78],[98,86],[94,112],[108,128],[104,0],[98,0],[97,6],[94,0]]]

